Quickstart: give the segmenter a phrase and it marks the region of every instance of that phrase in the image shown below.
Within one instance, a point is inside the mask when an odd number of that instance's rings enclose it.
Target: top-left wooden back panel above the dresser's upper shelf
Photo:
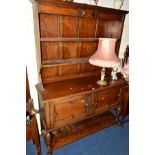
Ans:
[[[40,14],[41,37],[58,37],[58,19],[55,15]]]

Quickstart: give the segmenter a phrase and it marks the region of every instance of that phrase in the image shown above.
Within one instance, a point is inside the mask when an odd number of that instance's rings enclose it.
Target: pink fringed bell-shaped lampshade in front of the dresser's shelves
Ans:
[[[89,58],[89,63],[100,67],[118,67],[121,61],[115,53],[116,41],[114,38],[99,38],[97,51]]]

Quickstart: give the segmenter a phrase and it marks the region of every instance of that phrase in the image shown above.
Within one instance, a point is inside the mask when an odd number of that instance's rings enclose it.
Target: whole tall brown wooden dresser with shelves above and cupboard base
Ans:
[[[102,68],[88,59],[99,37],[117,38],[118,54],[128,12],[58,0],[32,4],[41,131],[50,155],[58,147],[117,126],[125,81],[112,81],[107,70],[108,85],[97,85]]]

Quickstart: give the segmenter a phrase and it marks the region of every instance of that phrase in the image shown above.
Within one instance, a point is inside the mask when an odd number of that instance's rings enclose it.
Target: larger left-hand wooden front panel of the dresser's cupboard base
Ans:
[[[66,123],[76,122],[87,116],[88,97],[79,96],[68,98],[54,104],[55,122],[54,127],[62,126]]]

